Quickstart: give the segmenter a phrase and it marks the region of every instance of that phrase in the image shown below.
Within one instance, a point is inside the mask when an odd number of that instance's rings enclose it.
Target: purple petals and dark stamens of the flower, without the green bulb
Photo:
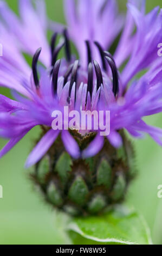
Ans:
[[[145,14],[144,2],[128,1],[124,19],[114,0],[80,0],[77,5],[74,0],[65,0],[67,28],[48,21],[42,0],[35,1],[35,8],[30,0],[20,1],[20,17],[1,2],[0,84],[12,89],[15,99],[0,95],[0,136],[9,139],[1,157],[36,125],[46,132],[30,153],[27,167],[47,153],[60,133],[74,159],[97,154],[105,138],[93,126],[91,130],[78,129],[81,136],[96,132],[83,150],[68,130],[51,129],[51,114],[55,110],[63,113],[64,106],[69,111],[110,111],[107,139],[116,148],[122,144],[121,129],[137,138],[148,133],[162,145],[162,130],[142,120],[162,110],[162,58],[157,54],[162,41],[162,12],[157,7]],[[54,29],[50,45],[46,38],[49,27]],[[112,56],[107,49],[121,30]],[[57,34],[62,36],[56,45]],[[69,39],[77,47],[79,60],[71,53]],[[65,58],[60,60],[62,48]],[[33,56],[31,67],[22,52]],[[43,65],[38,65],[38,59]],[[137,80],[135,75],[142,70],[145,74]]]

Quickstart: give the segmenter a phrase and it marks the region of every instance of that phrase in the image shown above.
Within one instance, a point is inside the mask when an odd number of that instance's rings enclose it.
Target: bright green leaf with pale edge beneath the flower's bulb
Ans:
[[[74,244],[152,244],[145,220],[135,211],[116,206],[102,216],[78,217],[68,225]]]

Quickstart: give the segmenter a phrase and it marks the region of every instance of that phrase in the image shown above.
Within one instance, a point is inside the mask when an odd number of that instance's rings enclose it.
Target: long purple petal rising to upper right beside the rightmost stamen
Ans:
[[[135,74],[157,59],[157,45],[162,40],[162,10],[158,14],[159,8],[156,7],[144,15],[133,4],[128,4],[128,8],[137,25],[137,33],[131,58],[121,74],[124,88]]]

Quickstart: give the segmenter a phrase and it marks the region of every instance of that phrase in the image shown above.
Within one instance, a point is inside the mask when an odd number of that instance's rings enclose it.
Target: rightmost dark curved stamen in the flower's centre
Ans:
[[[111,67],[113,74],[113,93],[116,96],[119,92],[119,79],[118,79],[118,70],[116,68],[115,62],[112,58],[105,56],[109,66]]]

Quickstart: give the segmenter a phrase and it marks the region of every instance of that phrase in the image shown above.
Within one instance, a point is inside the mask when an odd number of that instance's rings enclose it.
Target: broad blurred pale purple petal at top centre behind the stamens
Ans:
[[[93,59],[98,59],[101,64],[98,49],[93,42],[98,41],[107,49],[119,34],[124,19],[118,14],[116,1],[109,0],[105,4],[105,0],[79,0],[76,4],[75,0],[64,0],[64,12],[70,38],[79,51],[82,65],[85,68],[87,66],[87,50],[83,47],[85,40],[90,42]]]

